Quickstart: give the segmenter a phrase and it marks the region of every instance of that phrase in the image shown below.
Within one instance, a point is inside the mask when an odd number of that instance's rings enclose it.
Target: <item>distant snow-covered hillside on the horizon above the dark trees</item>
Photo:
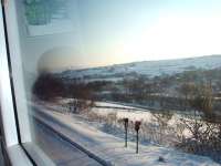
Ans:
[[[64,79],[118,80],[123,76],[175,74],[196,69],[215,69],[221,66],[221,55],[210,55],[179,60],[143,61],[115,64],[101,68],[69,70],[61,73]]]

